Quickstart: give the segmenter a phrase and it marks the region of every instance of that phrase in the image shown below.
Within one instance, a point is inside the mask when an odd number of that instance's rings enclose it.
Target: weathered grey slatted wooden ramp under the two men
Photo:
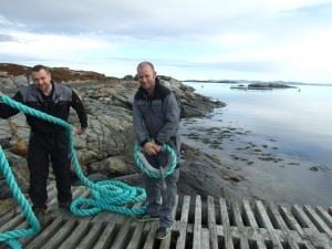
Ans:
[[[87,196],[84,187],[74,197]],[[174,211],[172,236],[155,239],[157,222],[143,224],[102,212],[77,218],[58,209],[54,186],[49,188],[49,220],[24,248],[45,249],[331,249],[332,207],[282,206],[260,200],[228,203],[224,198],[181,196]],[[0,217],[0,232],[27,227],[19,209]],[[6,246],[0,246],[6,248]]]

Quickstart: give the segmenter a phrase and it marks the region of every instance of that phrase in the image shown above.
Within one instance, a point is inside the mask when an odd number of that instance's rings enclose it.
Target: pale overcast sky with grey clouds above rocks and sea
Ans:
[[[0,62],[178,80],[332,83],[332,0],[81,0],[0,4]]]

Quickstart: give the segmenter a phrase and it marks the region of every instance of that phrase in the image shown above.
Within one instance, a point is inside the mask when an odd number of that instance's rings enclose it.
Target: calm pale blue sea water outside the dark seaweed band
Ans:
[[[299,90],[242,91],[224,83],[186,84],[227,104],[198,121],[198,125],[207,121],[214,126],[231,124],[250,131],[248,139],[253,143],[276,141],[278,154],[283,157],[324,169],[315,173],[309,170],[310,167],[305,170],[261,167],[256,168],[259,174],[246,172],[249,181],[264,186],[267,194],[269,186],[271,195],[280,201],[304,198],[307,203],[332,204],[332,86],[297,85]],[[261,173],[266,173],[264,179]],[[284,185],[282,195],[279,194],[280,181]]]

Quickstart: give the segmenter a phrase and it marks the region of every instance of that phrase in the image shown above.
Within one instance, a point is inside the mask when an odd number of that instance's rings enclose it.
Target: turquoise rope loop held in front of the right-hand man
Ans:
[[[167,170],[164,172],[164,175],[162,176],[159,172],[156,173],[156,172],[148,170],[148,168],[145,166],[145,164],[139,158],[141,146],[138,145],[137,142],[135,143],[135,145],[134,145],[135,163],[136,163],[137,167],[147,176],[153,177],[153,178],[160,178],[160,177],[167,177],[174,172],[174,169],[177,165],[177,156],[176,156],[173,147],[170,145],[168,145],[167,143],[163,144],[163,148],[168,154],[168,163],[167,163],[167,166],[165,167],[165,168],[167,168]]]

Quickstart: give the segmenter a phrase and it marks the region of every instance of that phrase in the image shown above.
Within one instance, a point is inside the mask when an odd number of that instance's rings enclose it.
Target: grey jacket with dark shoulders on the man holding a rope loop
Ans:
[[[141,146],[149,139],[179,147],[179,106],[169,89],[156,80],[154,96],[139,87],[133,102],[133,121]],[[178,151],[178,149],[177,149]]]

